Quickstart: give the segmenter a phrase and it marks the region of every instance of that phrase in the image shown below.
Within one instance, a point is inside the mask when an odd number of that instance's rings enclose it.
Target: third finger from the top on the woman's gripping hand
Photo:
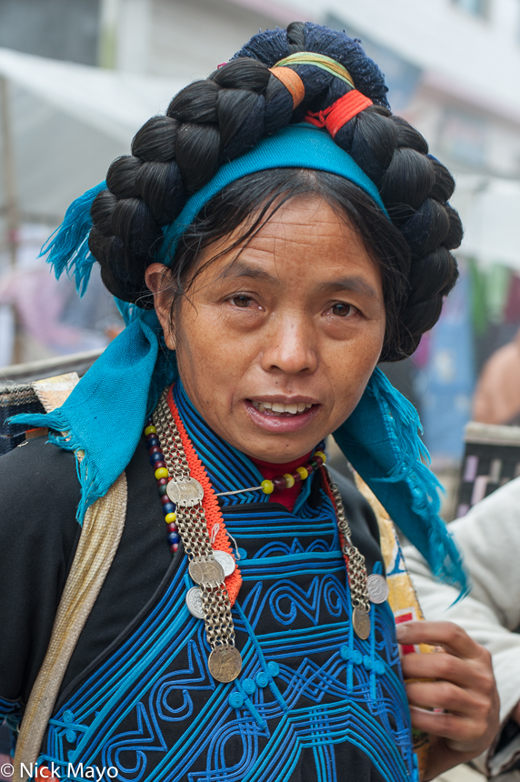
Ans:
[[[445,708],[455,714],[480,717],[487,713],[489,698],[451,682],[408,682],[408,702],[421,708]]]

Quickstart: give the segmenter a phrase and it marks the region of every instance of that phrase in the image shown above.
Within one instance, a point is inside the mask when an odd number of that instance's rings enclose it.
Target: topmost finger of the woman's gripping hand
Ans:
[[[429,644],[443,647],[455,657],[472,659],[482,656],[482,647],[454,622],[404,622],[395,628],[397,643],[402,646]]]

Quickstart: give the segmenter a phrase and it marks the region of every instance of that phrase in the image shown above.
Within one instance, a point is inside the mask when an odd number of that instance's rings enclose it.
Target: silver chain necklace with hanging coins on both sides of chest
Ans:
[[[230,682],[242,670],[242,657],[235,647],[235,627],[225,578],[235,572],[235,557],[214,548],[203,506],[203,486],[190,475],[182,437],[167,402],[168,389],[159,399],[155,413],[145,428],[146,446],[155,470],[157,489],[168,525],[168,542],[175,554],[182,539],[189,558],[188,571],[197,586],[186,593],[190,613],[205,622],[211,653],[208,667],[220,682]],[[337,486],[330,483],[337,524],[343,538],[348,586],[352,601],[352,625],[357,637],[370,635],[370,603],[383,603],[388,597],[385,576],[366,575],[365,557],[352,543],[345,506]]]

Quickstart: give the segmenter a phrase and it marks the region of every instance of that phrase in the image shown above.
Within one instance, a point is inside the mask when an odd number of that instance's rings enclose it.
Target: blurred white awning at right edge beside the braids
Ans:
[[[501,264],[520,271],[520,181],[457,175],[451,203],[465,237],[461,252],[481,266]]]

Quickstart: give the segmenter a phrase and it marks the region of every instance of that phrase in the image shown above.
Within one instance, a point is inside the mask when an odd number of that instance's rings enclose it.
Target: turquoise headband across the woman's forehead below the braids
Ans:
[[[213,179],[189,198],[175,223],[165,228],[165,238],[158,260],[170,266],[168,261],[175,254],[185,229],[226,185],[248,174],[269,168],[311,168],[313,171],[327,171],[329,174],[343,176],[361,187],[388,216],[372,179],[368,178],[348,153],[335,144],[328,133],[307,123],[288,125],[277,134],[263,138],[254,149],[242,157],[222,165]]]

